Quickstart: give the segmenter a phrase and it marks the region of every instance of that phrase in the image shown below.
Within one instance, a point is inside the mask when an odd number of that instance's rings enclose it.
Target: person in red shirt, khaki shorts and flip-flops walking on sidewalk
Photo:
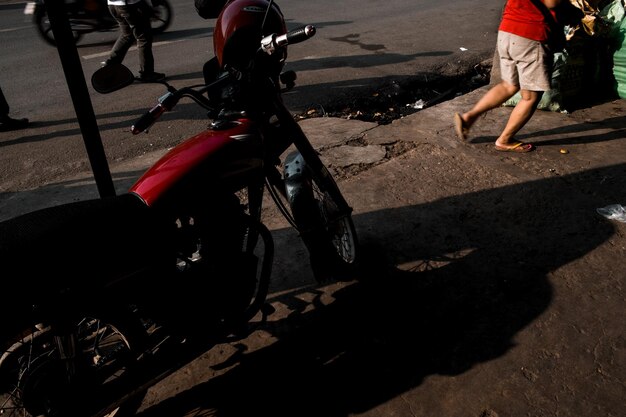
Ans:
[[[550,89],[552,57],[550,41],[556,25],[554,9],[561,0],[508,0],[498,28],[501,81],[465,113],[455,113],[457,136],[465,141],[470,127],[483,113],[501,106],[518,91],[521,99],[496,139],[495,148],[505,152],[529,152],[530,143],[515,134],[530,120],[544,91]]]

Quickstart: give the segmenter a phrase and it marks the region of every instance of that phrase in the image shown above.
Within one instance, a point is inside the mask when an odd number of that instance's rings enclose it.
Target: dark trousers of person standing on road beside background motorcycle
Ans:
[[[136,41],[140,72],[147,74],[154,72],[149,7],[143,1],[126,6],[109,6],[111,15],[120,25],[120,35],[111,50],[110,62],[122,63],[128,49]]]

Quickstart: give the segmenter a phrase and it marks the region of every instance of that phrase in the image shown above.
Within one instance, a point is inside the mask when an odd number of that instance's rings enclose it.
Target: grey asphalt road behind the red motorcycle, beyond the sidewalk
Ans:
[[[24,3],[0,4],[0,85],[15,117],[30,129],[0,135],[0,193],[31,189],[91,170],[56,48],[45,44],[23,14]],[[283,1],[288,28],[314,24],[317,35],[289,49],[288,69],[298,73],[285,96],[294,112],[371,95],[407,80],[429,81],[471,70],[492,55],[502,0],[387,2]],[[154,44],[156,69],[175,86],[201,80],[213,56],[214,19],[197,16],[190,1],[173,0],[174,21]],[[106,59],[115,32],[85,36],[78,44],[101,140],[109,164],[165,149],[206,125],[204,112],[179,105],[148,135],[133,137],[129,126],[163,92],[159,85],[134,85],[110,95],[89,86]],[[138,70],[137,53],[125,64]],[[400,103],[405,105],[408,103]]]

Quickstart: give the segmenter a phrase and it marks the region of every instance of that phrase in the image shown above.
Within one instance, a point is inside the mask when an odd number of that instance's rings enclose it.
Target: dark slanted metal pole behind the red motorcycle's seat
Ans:
[[[87,83],[85,83],[83,67],[80,63],[74,38],[72,37],[65,3],[63,0],[44,0],[44,4],[50,18],[52,33],[56,40],[63,72],[65,73],[67,86],[74,103],[74,111],[83,135],[83,141],[85,142],[100,197],[114,196],[113,178],[109,171],[109,164],[104,152],[104,146],[102,145],[102,138],[98,130]]]

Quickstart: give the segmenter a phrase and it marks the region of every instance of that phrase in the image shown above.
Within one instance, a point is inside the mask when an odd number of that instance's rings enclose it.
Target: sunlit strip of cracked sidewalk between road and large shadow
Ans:
[[[537,111],[518,135],[521,140],[537,145],[538,149],[529,154],[503,154],[493,149],[493,142],[511,110],[508,107],[495,109],[477,121],[468,142],[461,143],[454,134],[452,116],[454,112],[470,108],[487,88],[423,109],[388,125],[331,117],[304,119],[300,124],[326,164],[331,169],[347,173],[367,171],[407,149],[422,146],[440,148],[453,159],[462,155],[471,161],[471,165],[488,168],[494,177],[502,172],[518,180],[576,174],[626,161],[626,101],[619,99],[597,103],[571,114]],[[155,151],[112,164],[110,169],[117,192],[124,192],[163,152]],[[415,157],[425,159],[419,155]],[[5,194],[0,199],[0,220],[64,202],[98,198],[93,185],[91,172],[86,172],[38,189]],[[618,203],[620,197],[624,199],[624,196],[613,196],[607,197],[606,202],[616,200],[612,202]]]

